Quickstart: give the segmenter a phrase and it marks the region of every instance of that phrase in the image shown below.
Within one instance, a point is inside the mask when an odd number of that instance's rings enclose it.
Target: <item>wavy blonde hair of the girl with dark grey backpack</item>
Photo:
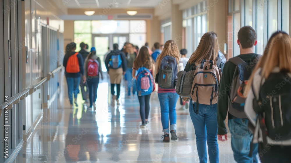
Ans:
[[[175,57],[177,60],[177,64],[179,64],[181,54],[180,54],[178,46],[174,40],[168,40],[165,43],[163,51],[157,57],[157,65],[158,66],[161,64],[162,58],[164,58],[164,56]],[[157,70],[159,70],[159,67],[157,67]]]

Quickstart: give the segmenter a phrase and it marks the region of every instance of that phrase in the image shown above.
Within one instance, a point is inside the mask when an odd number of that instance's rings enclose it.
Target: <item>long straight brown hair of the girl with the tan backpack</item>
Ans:
[[[218,55],[219,47],[217,41],[217,34],[215,32],[206,32],[201,37],[199,45],[195,52],[191,54],[189,63],[201,63],[203,59],[212,60],[216,65],[216,58]]]

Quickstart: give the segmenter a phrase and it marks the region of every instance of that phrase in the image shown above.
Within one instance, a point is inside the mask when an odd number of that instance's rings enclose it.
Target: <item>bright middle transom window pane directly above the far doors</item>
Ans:
[[[129,21],[93,20],[92,33],[129,33]]]

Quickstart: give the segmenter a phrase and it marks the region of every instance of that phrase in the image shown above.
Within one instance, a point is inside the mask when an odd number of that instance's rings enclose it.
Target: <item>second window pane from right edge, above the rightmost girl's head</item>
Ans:
[[[277,18],[278,18],[278,2],[277,0],[270,0],[269,1],[269,22],[268,22],[268,36],[270,37],[272,33],[277,31]]]

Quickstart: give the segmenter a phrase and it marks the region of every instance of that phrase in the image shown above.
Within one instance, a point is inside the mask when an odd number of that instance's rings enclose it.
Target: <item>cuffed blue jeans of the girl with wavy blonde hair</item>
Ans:
[[[177,114],[176,104],[179,98],[177,93],[158,93],[161,105],[161,120],[164,129],[164,134],[169,134],[169,119],[170,131],[176,130]],[[170,118],[169,118],[170,117]]]

